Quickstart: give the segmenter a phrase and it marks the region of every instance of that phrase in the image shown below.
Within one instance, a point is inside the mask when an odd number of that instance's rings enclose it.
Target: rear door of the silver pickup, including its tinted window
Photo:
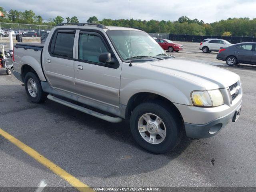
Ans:
[[[74,47],[75,30],[56,30],[48,50],[44,50],[44,72],[54,88],[74,92]]]

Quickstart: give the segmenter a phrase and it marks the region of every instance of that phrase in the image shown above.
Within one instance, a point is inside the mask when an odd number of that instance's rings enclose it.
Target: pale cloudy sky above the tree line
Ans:
[[[129,0],[1,0],[5,10],[33,10],[44,20],[77,16],[86,22],[90,16],[128,19]],[[180,16],[205,23],[227,18],[256,18],[256,0],[130,0],[131,18],[141,20],[178,20]],[[65,20],[64,20],[65,21]]]

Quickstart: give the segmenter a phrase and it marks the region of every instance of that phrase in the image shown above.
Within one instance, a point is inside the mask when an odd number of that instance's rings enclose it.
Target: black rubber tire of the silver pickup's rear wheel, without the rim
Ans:
[[[36,87],[37,87],[37,94],[35,97],[32,97],[28,90],[28,80],[30,80],[30,79],[34,80]],[[47,94],[45,92],[43,92],[40,80],[36,74],[34,74],[33,72],[28,72],[24,78],[24,83],[25,83],[26,93],[27,93],[29,99],[33,103],[42,103],[47,100]]]

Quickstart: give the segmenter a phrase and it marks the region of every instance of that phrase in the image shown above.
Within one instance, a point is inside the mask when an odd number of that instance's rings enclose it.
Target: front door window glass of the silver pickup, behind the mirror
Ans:
[[[99,62],[100,54],[109,52],[102,38],[96,34],[80,33],[78,44],[78,59]]]

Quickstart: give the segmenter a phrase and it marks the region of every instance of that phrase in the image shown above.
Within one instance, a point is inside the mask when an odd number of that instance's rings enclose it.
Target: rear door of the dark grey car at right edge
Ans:
[[[252,43],[239,44],[234,47],[238,62],[250,62],[252,58]]]

